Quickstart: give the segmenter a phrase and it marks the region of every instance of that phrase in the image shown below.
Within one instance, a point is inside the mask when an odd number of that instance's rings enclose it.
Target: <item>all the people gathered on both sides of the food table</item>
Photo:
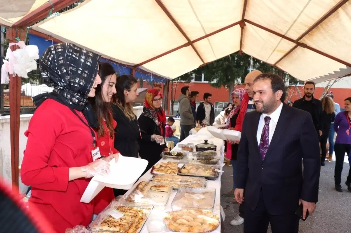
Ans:
[[[166,140],[176,145],[196,126],[228,124],[241,132],[240,140],[225,142],[233,187],[223,196],[240,204],[231,225],[244,223],[245,232],[266,232],[269,223],[273,232],[297,232],[295,212],[302,204],[303,218],[306,211],[313,213],[320,167],[331,161],[333,149],[335,188],[343,191],[343,160],[351,150],[351,97],[340,112],[332,95],[315,99],[314,83],[306,82],[304,97],[285,104],[283,79],[254,70],[245,77],[245,88],[234,90],[232,103],[215,117],[212,95],[205,93],[196,108],[199,92],[185,86],[178,99],[178,139],[174,118],[166,119],[161,107],[162,93],[148,90],[137,118],[137,79],[117,77],[111,64],[100,63],[99,55],[74,44],[55,44],[41,56],[39,69],[53,92],[33,98],[37,110],[25,132],[21,179],[32,187],[29,207],[50,216],[57,232],[87,226],[126,192],[106,187],[91,203],[80,202],[89,178],[106,174],[111,160],[117,162],[121,155],[144,158],[145,173],[169,150]],[[351,191],[351,168],[345,184]]]

